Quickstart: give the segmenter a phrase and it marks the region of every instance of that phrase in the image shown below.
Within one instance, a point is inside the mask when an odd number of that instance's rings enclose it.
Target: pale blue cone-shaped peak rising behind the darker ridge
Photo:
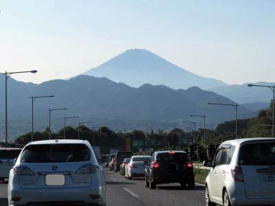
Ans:
[[[164,84],[172,89],[188,89],[194,86],[209,89],[227,85],[220,80],[197,76],[145,49],[129,49],[83,74],[106,77],[136,88],[146,83]]]

